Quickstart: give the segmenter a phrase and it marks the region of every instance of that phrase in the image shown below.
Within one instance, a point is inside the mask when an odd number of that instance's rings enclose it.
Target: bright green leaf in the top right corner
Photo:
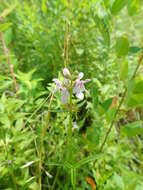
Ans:
[[[130,16],[137,14],[140,8],[141,8],[141,0],[129,0],[128,13]]]

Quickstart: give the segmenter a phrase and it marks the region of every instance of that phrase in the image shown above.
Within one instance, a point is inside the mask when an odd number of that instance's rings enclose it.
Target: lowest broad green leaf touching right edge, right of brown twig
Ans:
[[[126,134],[128,137],[142,134],[143,133],[142,124],[143,124],[142,121],[128,123],[127,125],[121,127],[121,132]]]

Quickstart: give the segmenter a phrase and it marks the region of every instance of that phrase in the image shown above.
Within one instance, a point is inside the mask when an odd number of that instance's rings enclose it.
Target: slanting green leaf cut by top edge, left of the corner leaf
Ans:
[[[128,0],[114,0],[111,7],[111,13],[113,15],[116,15],[118,12],[120,12],[124,8],[127,2]]]

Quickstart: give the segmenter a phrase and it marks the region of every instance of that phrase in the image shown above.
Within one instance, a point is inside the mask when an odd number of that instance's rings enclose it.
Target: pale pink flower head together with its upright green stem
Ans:
[[[69,126],[67,129],[67,161],[73,165],[74,160],[74,139],[73,139],[73,130],[78,128],[76,121],[73,120],[74,118],[74,104],[76,101],[75,99],[82,101],[84,99],[85,93],[88,91],[85,88],[85,84],[90,81],[90,79],[83,80],[84,74],[79,72],[77,75],[71,74],[67,68],[63,69],[63,78],[59,80],[57,78],[53,79],[55,84],[55,91],[61,92],[61,104],[62,105],[69,105],[69,109],[67,113],[67,117],[69,117]],[[72,179],[72,172],[71,172],[71,179]],[[72,182],[72,180],[71,180]],[[72,182],[73,189],[75,183]]]

